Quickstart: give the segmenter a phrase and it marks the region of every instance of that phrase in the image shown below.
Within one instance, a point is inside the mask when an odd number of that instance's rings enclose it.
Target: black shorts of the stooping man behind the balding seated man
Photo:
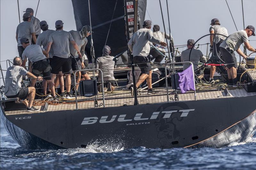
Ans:
[[[45,80],[51,80],[51,68],[48,61],[39,61],[32,64],[32,74],[39,76],[43,73]]]

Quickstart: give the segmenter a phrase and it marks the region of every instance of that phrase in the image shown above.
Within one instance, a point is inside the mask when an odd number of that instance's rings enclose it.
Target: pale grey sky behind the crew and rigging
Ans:
[[[37,0],[19,0],[21,22],[23,11],[29,7],[36,12],[37,3]],[[161,3],[166,32],[169,33],[166,1],[162,0]],[[245,27],[247,25],[256,27],[256,0],[244,0],[243,3]],[[241,0],[228,0],[228,5],[235,19],[237,29],[243,29]],[[228,29],[229,34],[236,31],[225,0],[169,0],[168,6],[174,45],[186,44],[188,39],[197,40],[201,36],[208,34],[212,18],[220,19],[220,24]],[[18,56],[17,42],[15,39],[16,28],[19,24],[17,0],[1,0],[0,8],[0,60],[4,61]],[[153,24],[158,24],[161,31],[164,31],[159,1],[148,0],[147,11],[146,19],[151,18]],[[60,19],[64,23],[64,30],[76,30],[71,0],[41,0],[36,17],[40,21],[46,20],[49,29],[55,29],[55,21]],[[256,40],[256,37],[251,36],[249,40]],[[207,42],[209,42],[209,37],[199,41],[199,44]],[[256,41],[249,42],[252,47],[256,48]],[[202,51],[205,53],[203,49]],[[5,69],[5,62],[1,62],[1,66]]]

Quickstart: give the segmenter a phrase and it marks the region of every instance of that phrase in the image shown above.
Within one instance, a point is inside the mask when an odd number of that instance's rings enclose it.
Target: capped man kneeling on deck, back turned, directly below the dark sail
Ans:
[[[115,77],[114,77],[114,66],[115,66],[115,61],[113,60],[114,57],[110,56],[109,54],[111,53],[110,47],[104,46],[102,50],[102,56],[98,57],[96,59],[95,63],[95,69],[100,69],[103,74],[103,81],[107,81],[104,83],[104,87],[107,86],[108,90],[107,91],[113,91],[115,89]],[[98,72],[98,70],[95,70],[95,72]],[[98,81],[102,81],[101,79],[101,72],[99,72],[98,75]],[[102,85],[99,85],[100,92],[103,91]]]

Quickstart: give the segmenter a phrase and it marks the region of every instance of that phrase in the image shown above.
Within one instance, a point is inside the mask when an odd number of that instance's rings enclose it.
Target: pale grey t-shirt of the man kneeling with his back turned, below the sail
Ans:
[[[113,56],[101,56],[96,59],[95,69],[100,69],[103,73],[103,81],[115,80],[114,78],[114,66]],[[95,71],[98,72],[98,71]],[[101,81],[101,73],[99,71],[98,81]]]

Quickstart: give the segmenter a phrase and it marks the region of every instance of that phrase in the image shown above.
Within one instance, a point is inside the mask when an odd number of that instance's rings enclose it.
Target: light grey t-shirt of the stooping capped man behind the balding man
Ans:
[[[31,62],[37,62],[40,60],[46,59],[45,55],[43,54],[44,48],[42,48],[39,45],[33,44],[29,45],[25,48],[25,50],[22,53],[22,58],[25,56],[28,58]]]

